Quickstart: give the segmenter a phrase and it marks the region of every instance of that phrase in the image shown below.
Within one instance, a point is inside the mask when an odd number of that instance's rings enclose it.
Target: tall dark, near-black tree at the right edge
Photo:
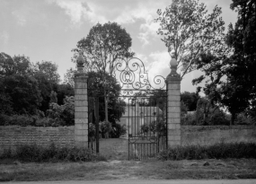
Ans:
[[[221,60],[210,53],[200,55],[197,69],[205,74],[193,81],[197,84],[207,78],[204,91],[211,101],[229,110],[231,125],[234,125],[238,113],[255,110],[256,107],[255,4],[250,0],[233,1],[231,8],[238,12],[238,20],[234,28],[229,25],[226,35],[226,43],[233,53]]]

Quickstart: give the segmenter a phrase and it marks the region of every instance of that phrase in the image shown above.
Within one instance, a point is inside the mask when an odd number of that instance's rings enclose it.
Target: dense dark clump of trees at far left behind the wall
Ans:
[[[57,92],[57,65],[42,61],[32,64],[29,57],[0,53],[0,110],[4,114],[35,114],[49,109],[50,93]],[[4,110],[5,109],[5,110]],[[4,110],[4,112],[3,112]]]

